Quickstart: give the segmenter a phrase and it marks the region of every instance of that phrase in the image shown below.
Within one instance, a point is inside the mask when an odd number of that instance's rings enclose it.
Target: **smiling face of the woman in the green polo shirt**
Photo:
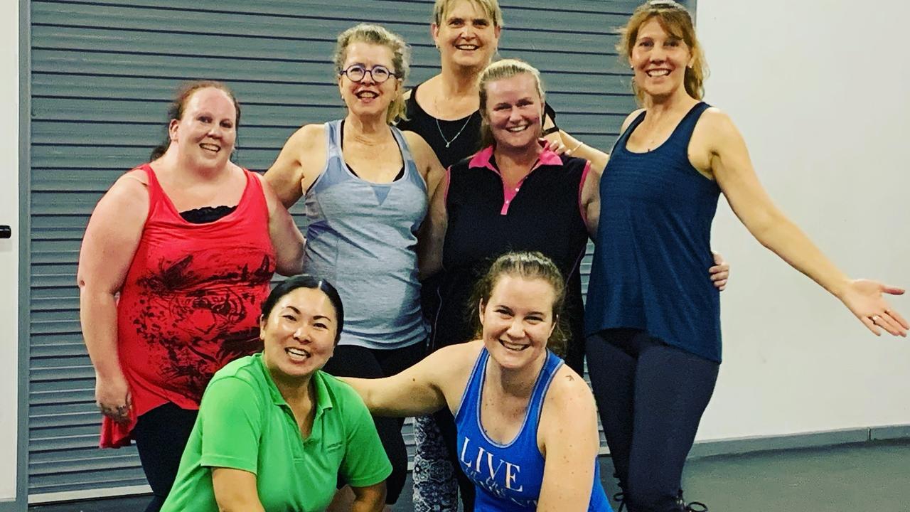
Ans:
[[[325,292],[296,288],[259,320],[263,361],[273,378],[293,380],[312,375],[335,351],[338,319]]]

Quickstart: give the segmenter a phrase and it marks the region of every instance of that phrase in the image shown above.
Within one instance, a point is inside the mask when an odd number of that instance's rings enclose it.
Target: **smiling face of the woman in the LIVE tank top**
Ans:
[[[480,303],[483,344],[506,369],[524,368],[546,356],[555,327],[556,291],[542,278],[503,274]]]

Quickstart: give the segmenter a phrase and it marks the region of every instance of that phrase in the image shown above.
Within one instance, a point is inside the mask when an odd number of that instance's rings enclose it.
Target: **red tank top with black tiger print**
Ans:
[[[198,409],[212,374],[262,350],[258,317],[275,272],[268,206],[248,170],[237,210],[193,224],[180,217],[147,164],[148,217],[117,302],[117,344],[133,408],[107,417],[101,445],[129,444],[136,418],[171,402]]]

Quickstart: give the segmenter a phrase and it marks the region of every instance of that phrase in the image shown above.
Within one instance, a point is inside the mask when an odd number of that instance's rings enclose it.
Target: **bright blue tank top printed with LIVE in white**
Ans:
[[[562,360],[547,352],[547,361],[534,383],[521,430],[510,443],[501,445],[491,440],[480,425],[483,377],[489,359],[487,349],[481,349],[455,415],[461,469],[477,488],[474,505],[477,512],[534,511],[541,496],[544,466],[541,450],[537,446],[537,426],[541,420],[543,399]],[[601,468],[596,457],[591,464],[594,465],[594,478],[588,510],[612,512],[603,491]]]

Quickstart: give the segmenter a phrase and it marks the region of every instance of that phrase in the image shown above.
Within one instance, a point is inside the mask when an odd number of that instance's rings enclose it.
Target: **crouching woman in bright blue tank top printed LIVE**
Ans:
[[[510,252],[478,282],[480,339],[440,349],[400,374],[344,379],[374,415],[448,407],[475,510],[610,511],[601,485],[594,398],[548,350],[560,348],[565,284],[539,252]]]

